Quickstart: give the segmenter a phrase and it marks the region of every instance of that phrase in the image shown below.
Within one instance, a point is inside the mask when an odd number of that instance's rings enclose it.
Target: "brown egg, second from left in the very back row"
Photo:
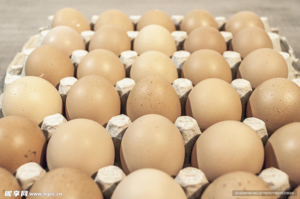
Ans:
[[[129,17],[120,10],[107,10],[99,16],[99,19],[95,23],[94,31],[97,31],[100,27],[114,24],[123,28],[125,31],[133,31],[134,26]]]

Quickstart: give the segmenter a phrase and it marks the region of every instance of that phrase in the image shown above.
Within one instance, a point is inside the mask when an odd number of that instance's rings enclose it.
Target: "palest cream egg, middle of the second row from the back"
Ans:
[[[161,25],[147,25],[142,28],[134,39],[134,50],[140,55],[146,51],[155,50],[171,57],[177,50],[171,33]]]

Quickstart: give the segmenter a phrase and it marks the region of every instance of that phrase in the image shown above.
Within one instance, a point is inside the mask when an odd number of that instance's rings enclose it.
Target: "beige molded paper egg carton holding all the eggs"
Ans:
[[[97,21],[98,17],[99,16],[94,15],[91,18],[92,30],[94,29],[94,24]],[[129,16],[129,18],[131,19],[131,21],[135,26],[139,21],[140,17],[141,17],[140,15]],[[179,73],[179,77],[181,74],[181,69],[184,61],[187,60],[187,58],[190,56],[189,52],[181,50],[183,42],[187,38],[187,33],[185,31],[179,31],[180,23],[183,20],[183,18],[184,16],[182,15],[171,16],[171,19],[176,25],[176,30],[177,30],[171,33],[177,45],[177,51],[174,52],[172,56],[172,61],[176,65],[176,68]],[[25,76],[24,66],[28,58],[28,55],[36,47],[42,45],[44,37],[49,32],[49,29],[51,29],[52,19],[53,16],[49,16],[47,26],[39,28],[39,34],[35,34],[32,37],[30,37],[30,39],[24,44],[22,48],[22,52],[18,52],[16,54],[13,61],[10,63],[10,65],[7,68],[6,78],[4,82],[4,90],[15,79]],[[223,16],[219,16],[219,17],[215,17],[215,19],[217,21],[222,36],[224,37],[227,44],[229,44],[232,39],[232,34],[230,32],[223,31],[224,25],[226,23],[226,18]],[[273,49],[280,52],[280,54],[283,55],[283,57],[287,62],[288,70],[289,70],[288,79],[293,80],[295,83],[297,83],[300,86],[299,59],[295,57],[295,53],[292,47],[289,45],[289,42],[287,41],[286,37],[279,34],[278,28],[270,28],[267,17],[261,17],[261,19],[262,22],[264,23],[265,31],[268,33],[268,35],[272,40]],[[95,33],[92,30],[81,32],[81,36],[85,41],[87,49],[88,49],[89,41],[91,40],[91,37]],[[133,41],[134,38],[137,36],[138,31],[128,31],[127,34],[131,38],[131,41]],[[72,53],[71,61],[73,62],[75,68],[78,66],[81,59],[87,53],[88,52],[85,50],[76,50]],[[121,99],[122,114],[111,118],[111,120],[108,122],[106,127],[107,131],[110,133],[111,137],[113,138],[115,151],[120,150],[122,135],[124,134],[128,126],[131,124],[129,117],[127,117],[124,114],[125,114],[125,106],[126,106],[129,92],[135,85],[134,80],[129,78],[129,71],[131,65],[133,64],[134,60],[137,57],[138,57],[137,52],[131,50],[124,51],[120,55],[120,59],[126,69],[126,78],[122,79],[116,84],[116,90],[118,91],[119,97]],[[241,63],[241,56],[237,52],[226,51],[223,53],[223,57],[228,61],[229,66],[232,70],[232,74],[233,76],[235,76],[238,66]],[[247,105],[250,95],[252,94],[252,88],[250,82],[244,79],[233,78],[232,80],[233,81],[231,85],[238,92],[242,103],[243,113],[242,113],[241,121],[249,125],[250,127],[252,127],[257,132],[263,144],[265,145],[265,143],[268,140],[268,134],[265,127],[265,123],[262,120],[259,120],[257,118],[245,119],[245,107]],[[74,77],[67,77],[61,80],[58,91],[61,94],[64,103],[69,89],[76,81],[77,79]],[[191,167],[190,158],[189,158],[191,156],[191,152],[193,150],[193,146],[197,138],[199,137],[199,135],[201,135],[201,131],[198,127],[196,120],[194,120],[192,117],[185,116],[185,103],[189,92],[193,88],[193,85],[190,80],[179,78],[173,82],[173,87],[175,88],[177,94],[179,95],[181,108],[182,108],[182,116],[177,118],[175,125],[178,127],[179,131],[182,134],[185,151],[186,151],[185,154],[186,158],[184,159],[183,169],[179,172],[175,180],[183,187],[189,199],[199,198],[203,190],[208,185],[208,180],[206,179],[204,173],[201,170]],[[2,110],[1,110],[2,96],[3,94],[0,95],[0,118],[3,117]],[[67,120],[61,114],[55,114],[55,115],[50,115],[45,117],[41,129],[43,130],[47,141],[49,141],[55,129],[57,129],[60,125],[62,125],[65,122],[67,122]],[[195,140],[194,143],[190,142],[190,140],[192,139]],[[113,184],[117,185],[125,177],[125,174],[120,169],[122,168],[122,166],[120,163],[120,157],[118,153],[115,154],[114,165],[116,166],[108,166],[105,168],[101,168],[98,171],[97,176],[95,177],[95,181],[99,184],[99,187],[101,188],[101,191],[103,192],[105,198],[110,198],[114,188],[116,187],[112,185]],[[24,172],[25,173],[27,172],[26,178],[22,178],[22,174]],[[45,170],[41,168],[40,165],[34,163],[27,163],[25,165],[22,165],[17,170],[16,178],[21,183],[22,189],[28,190],[29,187],[36,180],[42,177],[45,173],[46,173]],[[116,178],[115,177],[116,175],[118,175],[119,178]],[[273,190],[278,190],[278,187],[279,188],[286,187],[287,189],[289,187],[288,180],[286,180],[288,179],[287,174],[285,174],[283,171],[280,171],[278,169],[275,168],[265,169],[261,171],[259,177],[262,178],[266,183],[268,183]],[[114,183],[111,183],[111,179],[114,179]],[[106,184],[105,183],[106,180],[110,181],[110,183]]]

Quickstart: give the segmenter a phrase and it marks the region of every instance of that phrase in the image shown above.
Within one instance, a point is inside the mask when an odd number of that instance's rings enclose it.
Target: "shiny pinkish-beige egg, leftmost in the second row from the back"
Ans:
[[[71,56],[74,50],[85,50],[85,44],[80,34],[73,28],[64,25],[52,28],[46,34],[43,45],[55,46],[67,56]]]

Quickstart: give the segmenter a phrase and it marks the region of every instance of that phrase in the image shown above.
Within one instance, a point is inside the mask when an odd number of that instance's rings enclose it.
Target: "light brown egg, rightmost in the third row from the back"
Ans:
[[[243,59],[236,78],[248,80],[254,90],[268,79],[287,76],[288,69],[283,56],[273,49],[262,48],[254,50]]]

